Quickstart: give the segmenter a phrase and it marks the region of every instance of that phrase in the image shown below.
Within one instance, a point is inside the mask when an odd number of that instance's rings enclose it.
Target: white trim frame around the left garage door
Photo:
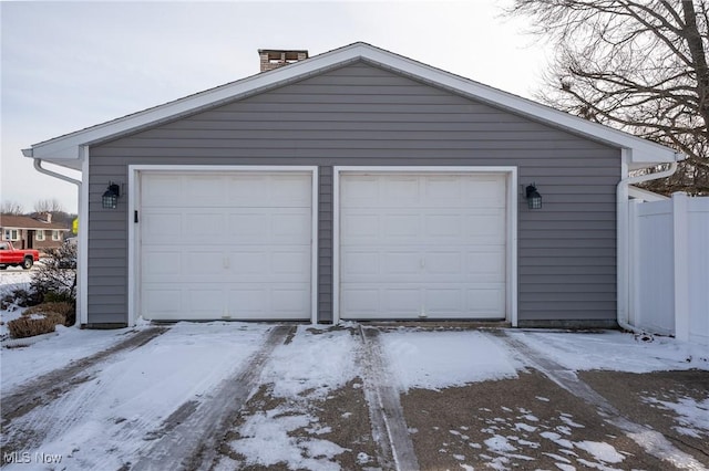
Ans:
[[[310,245],[310,321],[317,323],[317,279],[318,279],[318,167],[317,166],[210,166],[210,165],[131,165],[127,185],[127,224],[129,224],[129,325],[135,325],[140,306],[141,261],[135,211],[140,209],[140,174],[161,172],[309,172],[311,188],[311,245]],[[140,214],[138,214],[140,216]]]

